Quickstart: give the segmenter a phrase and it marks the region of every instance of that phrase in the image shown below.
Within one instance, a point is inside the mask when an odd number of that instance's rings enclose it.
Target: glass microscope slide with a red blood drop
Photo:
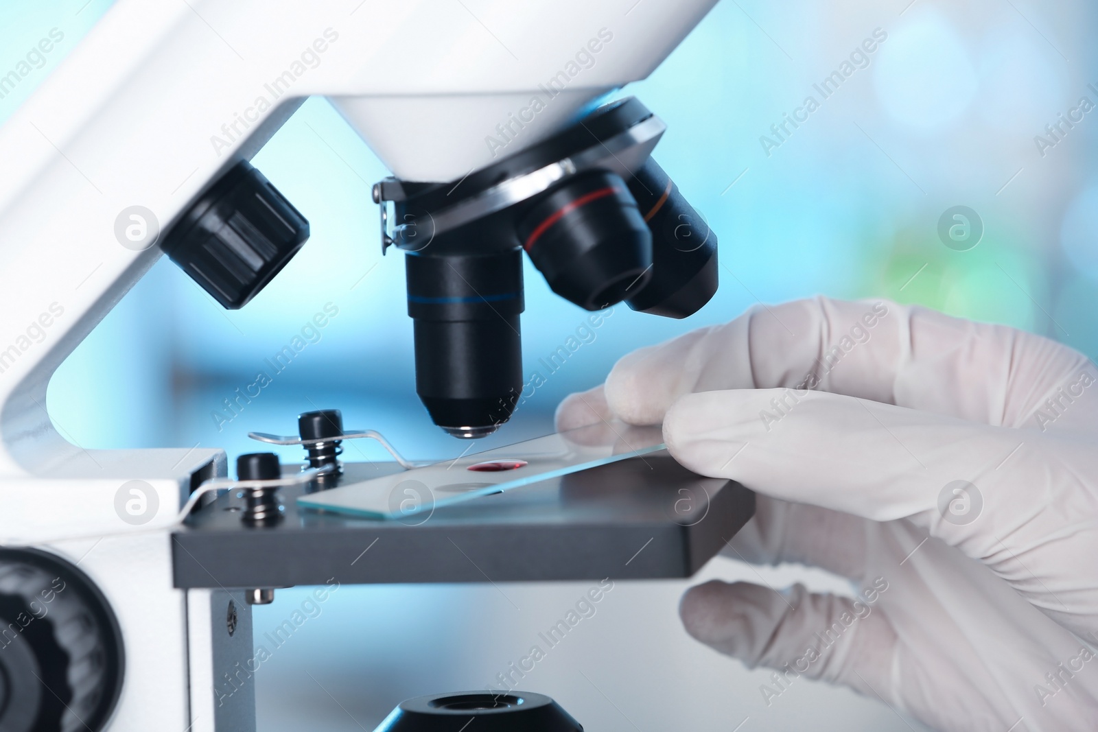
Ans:
[[[419,522],[435,508],[663,449],[659,426],[603,423],[306,494],[298,504]]]

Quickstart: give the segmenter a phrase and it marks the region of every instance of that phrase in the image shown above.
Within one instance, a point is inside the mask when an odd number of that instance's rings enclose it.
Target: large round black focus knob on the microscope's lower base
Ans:
[[[0,730],[99,732],[122,690],[114,612],[75,565],[0,548]]]

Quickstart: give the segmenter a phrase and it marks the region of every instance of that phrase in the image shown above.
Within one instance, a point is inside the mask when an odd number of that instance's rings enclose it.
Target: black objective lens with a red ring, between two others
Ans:
[[[540,199],[518,223],[518,240],[552,291],[597,311],[645,286],[652,235],[625,182],[581,176]]]

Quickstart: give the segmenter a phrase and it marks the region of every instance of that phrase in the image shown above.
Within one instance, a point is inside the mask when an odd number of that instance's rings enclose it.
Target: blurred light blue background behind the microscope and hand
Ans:
[[[631,4],[623,0],[624,8]],[[41,82],[109,5],[4,3],[0,66],[59,27],[64,44],[27,79]],[[634,12],[645,12],[643,4]],[[630,349],[727,320],[757,302],[817,293],[884,296],[1009,324],[1094,354],[1098,111],[1072,128],[1060,115],[1083,97],[1098,103],[1098,91],[1088,87],[1098,87],[1090,42],[1096,12],[1084,0],[720,2],[649,79],[625,90],[668,123],[656,157],[720,238],[720,292],[683,322],[615,308],[594,342],[549,376],[484,447],[550,431],[561,397],[598,383]],[[783,133],[785,139],[775,137],[771,125],[807,95],[821,100],[813,85],[877,29],[886,38],[866,54],[867,65],[792,134]],[[0,123],[33,83],[0,100]],[[1057,123],[1061,132],[1052,137],[1045,126]],[[764,145],[764,135],[781,144]],[[1055,144],[1039,145],[1038,135]],[[301,254],[237,312],[222,311],[163,259],[57,371],[48,392],[56,423],[85,448],[201,444],[232,457],[255,448],[248,430],[289,433],[299,412],[338,407],[348,426],[381,430],[410,457],[457,455],[466,446],[437,430],[415,396],[403,262],[380,252],[370,184],[388,171],[324,99],[307,101],[254,162],[309,217],[312,238]],[[965,251],[944,246],[938,233],[940,216],[955,205],[973,209],[983,222],[982,240]],[[585,313],[554,296],[530,267],[526,283],[529,367],[573,334]],[[266,370],[264,359],[327,303],[338,315],[320,340],[238,414],[226,412],[223,401]],[[347,457],[358,459],[356,451],[381,457],[369,446],[349,448]],[[706,572],[754,578],[725,560]],[[800,568],[765,576],[841,589]],[[765,675],[682,633],[674,605],[684,586],[624,589],[613,598],[620,603],[614,633],[605,632],[631,639],[631,650],[610,640],[602,647],[592,635],[593,645],[575,652],[586,654],[585,668],[604,667],[617,678],[616,692],[629,703],[651,706],[634,717],[638,729],[671,729],[685,719],[660,711],[673,701],[647,699],[645,689],[656,682],[690,690],[682,705],[698,708],[688,718],[694,729],[732,729],[760,705],[757,676]],[[513,592],[527,605],[548,604],[551,616],[552,598],[562,598],[563,610],[583,589]],[[257,611],[257,632],[293,609],[294,592]],[[496,607],[502,600],[493,594],[491,587],[347,588],[325,610],[328,619],[307,629],[315,640],[265,671],[260,698],[280,711],[260,719],[269,729],[300,729],[294,714],[309,710],[309,719],[327,729],[370,729],[410,691],[485,684],[536,626],[506,619],[511,608]],[[473,642],[469,628],[485,626],[493,632]],[[379,638],[390,633],[396,638]],[[469,667],[483,663],[483,672],[450,673],[460,665],[456,658]],[[581,720],[581,712],[605,720],[589,729],[625,729],[613,708],[574,680],[563,656],[549,663],[559,668],[539,669],[544,678],[533,686],[567,700]],[[309,682],[300,680],[300,668],[310,664],[314,675],[328,674],[317,678],[326,678],[335,696],[345,695],[346,716],[320,689],[302,687]],[[621,671],[632,664],[646,671]],[[851,729],[855,720],[864,729],[907,729],[884,707],[843,691],[805,684],[796,692],[799,699],[786,709],[760,712],[771,721],[753,729]],[[842,714],[820,717],[821,708]]]

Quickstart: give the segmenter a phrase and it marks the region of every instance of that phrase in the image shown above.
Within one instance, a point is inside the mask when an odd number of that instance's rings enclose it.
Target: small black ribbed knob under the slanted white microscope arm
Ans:
[[[309,238],[309,221],[242,160],[171,228],[163,249],[223,307],[255,297]]]

